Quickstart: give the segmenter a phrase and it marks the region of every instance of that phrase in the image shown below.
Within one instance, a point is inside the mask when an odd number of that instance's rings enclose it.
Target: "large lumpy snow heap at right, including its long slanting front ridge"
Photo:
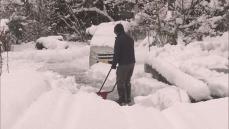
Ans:
[[[187,46],[152,47],[147,63],[194,99],[207,97],[208,89],[212,96],[224,97],[228,96],[228,73],[217,69],[228,71],[228,51],[228,34],[224,33]]]

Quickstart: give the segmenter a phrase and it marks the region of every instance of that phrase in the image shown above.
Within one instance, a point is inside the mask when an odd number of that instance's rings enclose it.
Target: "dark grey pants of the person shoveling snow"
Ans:
[[[119,101],[130,102],[131,101],[131,76],[134,71],[134,63],[128,65],[120,65],[116,71],[117,89],[119,95]]]

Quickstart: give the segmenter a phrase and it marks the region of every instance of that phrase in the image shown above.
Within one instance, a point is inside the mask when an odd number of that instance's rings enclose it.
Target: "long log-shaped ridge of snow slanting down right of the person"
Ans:
[[[158,70],[170,83],[186,90],[196,101],[209,99],[210,91],[207,85],[202,81],[183,73],[172,64],[158,59],[157,57],[151,57],[150,61],[153,62],[151,66]]]

